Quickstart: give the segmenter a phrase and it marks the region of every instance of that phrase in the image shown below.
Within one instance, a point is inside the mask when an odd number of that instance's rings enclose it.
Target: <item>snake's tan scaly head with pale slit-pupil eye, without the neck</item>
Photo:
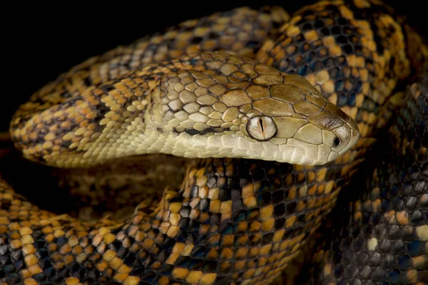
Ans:
[[[360,137],[354,120],[302,76],[225,53],[190,64],[158,92],[165,105],[153,114],[176,134],[163,152],[322,165]]]

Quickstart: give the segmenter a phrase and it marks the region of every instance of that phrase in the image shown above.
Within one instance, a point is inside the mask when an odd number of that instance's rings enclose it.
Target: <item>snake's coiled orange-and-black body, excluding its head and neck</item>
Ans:
[[[379,1],[320,1],[290,18],[274,8],[190,20],[64,73],[34,95],[34,108],[51,90],[57,93],[47,104],[54,105],[141,64],[195,49],[243,51],[304,76],[355,120],[359,142],[319,166],[199,160],[180,187],[167,187],[158,203],[141,202],[124,221],[58,216],[1,180],[0,283],[270,284],[327,231],[321,226],[338,197],[365,177],[361,196],[352,192],[359,202],[338,204],[351,218],[334,224],[342,227],[331,240],[320,238],[301,276],[310,280],[296,284],[424,284],[427,90],[416,84],[404,100],[402,91],[428,49]],[[392,139],[372,160],[383,128]]]

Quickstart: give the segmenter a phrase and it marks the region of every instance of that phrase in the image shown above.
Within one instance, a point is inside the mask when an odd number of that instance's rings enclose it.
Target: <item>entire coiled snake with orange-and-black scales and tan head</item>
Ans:
[[[156,148],[163,135],[173,155],[212,140],[250,159],[205,152],[178,189],[121,222],[58,216],[2,180],[0,281],[267,284],[303,254],[302,284],[426,283],[427,78],[403,91],[427,58],[388,6],[336,0],[291,17],[278,7],[213,14],[89,59],[16,113],[11,136],[26,157],[79,166],[133,155],[136,142]],[[126,105],[133,96],[153,99]],[[116,122],[126,128],[103,137]],[[153,140],[126,133],[144,123]],[[208,139],[216,132],[226,138]],[[373,152],[381,134],[387,147]]]

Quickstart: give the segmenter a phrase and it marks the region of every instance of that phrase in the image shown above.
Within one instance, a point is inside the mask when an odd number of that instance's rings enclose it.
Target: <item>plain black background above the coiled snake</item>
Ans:
[[[131,43],[148,33],[239,6],[283,6],[290,14],[315,0],[263,1],[15,1],[2,9],[0,131],[7,130],[20,103],[63,71],[91,56]],[[428,38],[423,1],[384,1]],[[109,3],[109,4],[108,4]]]

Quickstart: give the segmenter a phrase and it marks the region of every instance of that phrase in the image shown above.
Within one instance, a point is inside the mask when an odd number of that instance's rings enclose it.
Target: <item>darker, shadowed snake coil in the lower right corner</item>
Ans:
[[[338,205],[352,202],[336,207],[320,231],[330,242],[314,254],[308,284],[427,284],[427,72],[404,100],[372,150],[382,147],[382,156],[370,155],[367,179],[343,191]]]

